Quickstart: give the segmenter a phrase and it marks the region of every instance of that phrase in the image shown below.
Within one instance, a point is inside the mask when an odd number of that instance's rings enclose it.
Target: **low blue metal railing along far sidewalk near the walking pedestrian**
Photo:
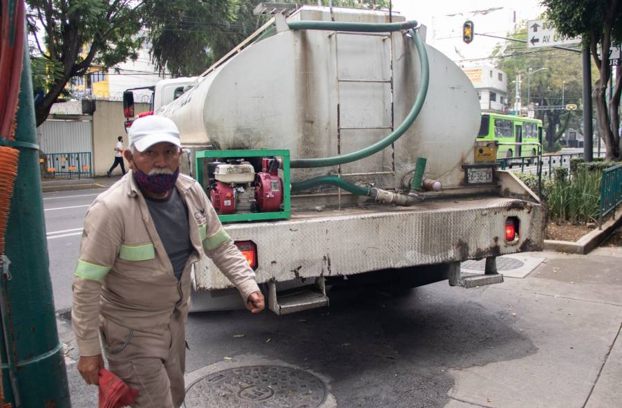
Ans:
[[[82,178],[93,176],[91,152],[39,154],[41,178]]]

